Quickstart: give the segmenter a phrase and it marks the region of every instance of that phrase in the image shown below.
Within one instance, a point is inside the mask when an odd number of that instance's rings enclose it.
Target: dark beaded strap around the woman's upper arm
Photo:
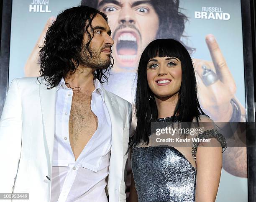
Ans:
[[[227,148],[227,143],[226,143],[226,139],[224,138],[223,135],[221,135],[221,133],[218,132],[218,130],[205,130],[203,133],[199,134],[198,136],[195,136],[195,138],[199,138],[200,139],[208,139],[208,138],[216,138],[216,140],[218,140],[221,144],[222,147],[222,152],[225,151],[225,149]],[[197,148],[199,145],[199,141],[194,142],[192,145],[192,156],[193,158],[196,160],[196,155],[197,155]]]

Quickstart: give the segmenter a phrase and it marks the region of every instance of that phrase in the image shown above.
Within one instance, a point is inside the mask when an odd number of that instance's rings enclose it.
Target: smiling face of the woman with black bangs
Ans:
[[[154,57],[147,65],[148,86],[158,98],[172,97],[182,82],[182,66],[176,57]]]

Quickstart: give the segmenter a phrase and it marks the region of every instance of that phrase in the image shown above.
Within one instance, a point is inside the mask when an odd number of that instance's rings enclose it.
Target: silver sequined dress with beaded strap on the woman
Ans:
[[[208,130],[199,138],[211,137],[226,147],[225,138],[215,130]],[[192,146],[194,159],[197,146]],[[131,168],[139,202],[195,202],[197,171],[176,148],[135,147]]]

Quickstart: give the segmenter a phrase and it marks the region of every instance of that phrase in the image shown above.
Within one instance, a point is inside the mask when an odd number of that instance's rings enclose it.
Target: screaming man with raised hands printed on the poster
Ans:
[[[156,38],[179,41],[186,38],[183,34],[188,19],[180,12],[179,0],[82,0],[81,5],[97,8],[108,15],[115,41],[112,47],[115,63],[106,89],[130,102],[134,99],[138,59],[147,44]],[[46,23],[26,63],[26,76],[39,76],[38,47],[42,46],[52,21],[54,17]],[[245,108],[235,96],[236,82],[215,36],[208,34],[205,42],[212,61],[193,59],[200,105],[215,122],[244,122]],[[191,54],[195,51],[189,46],[186,48]],[[227,148],[223,159],[223,168],[230,174],[247,176],[246,148]]]

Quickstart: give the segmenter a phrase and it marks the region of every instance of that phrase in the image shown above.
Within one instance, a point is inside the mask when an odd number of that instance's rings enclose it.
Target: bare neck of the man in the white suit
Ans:
[[[79,88],[80,92],[92,92],[95,89],[93,72],[92,68],[78,66],[75,72],[68,73],[64,80],[67,87]]]

